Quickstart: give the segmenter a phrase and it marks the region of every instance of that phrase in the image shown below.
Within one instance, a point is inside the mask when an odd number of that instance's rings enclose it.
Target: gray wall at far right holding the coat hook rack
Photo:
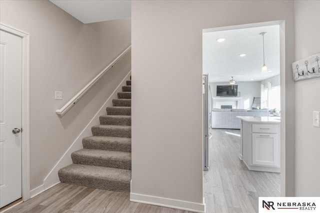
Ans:
[[[320,1],[294,1],[295,60],[320,52]],[[320,128],[312,112],[320,111],[320,78],[295,82],[295,195],[320,196]]]

